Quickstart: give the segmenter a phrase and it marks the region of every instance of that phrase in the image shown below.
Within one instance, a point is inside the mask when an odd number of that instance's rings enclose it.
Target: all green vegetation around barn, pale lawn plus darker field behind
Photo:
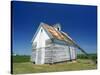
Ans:
[[[97,60],[96,54],[89,54],[93,60]],[[97,64],[91,63],[84,55],[77,55],[77,62],[64,62],[58,64],[43,64],[36,65],[30,62],[30,56],[12,56],[13,58],[13,73],[14,74],[25,74],[25,73],[42,73],[42,72],[61,72],[61,71],[76,71],[76,70],[91,70],[96,69]]]

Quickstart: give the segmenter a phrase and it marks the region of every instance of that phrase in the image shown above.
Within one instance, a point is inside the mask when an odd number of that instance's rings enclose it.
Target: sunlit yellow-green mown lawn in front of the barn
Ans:
[[[60,71],[74,71],[74,70],[91,70],[96,69],[97,65],[92,64],[88,59],[78,59],[75,63],[58,63],[58,64],[43,64],[36,65],[31,62],[13,63],[14,74],[25,73],[42,73],[42,72],[60,72]]]

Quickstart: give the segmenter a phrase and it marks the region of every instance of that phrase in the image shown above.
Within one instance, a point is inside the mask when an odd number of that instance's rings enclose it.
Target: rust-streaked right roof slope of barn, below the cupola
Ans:
[[[42,27],[47,32],[49,32],[53,36],[54,39],[62,40],[62,41],[68,42],[69,44],[73,44],[72,38],[67,33],[56,30],[53,26],[50,26],[45,23],[42,25]]]

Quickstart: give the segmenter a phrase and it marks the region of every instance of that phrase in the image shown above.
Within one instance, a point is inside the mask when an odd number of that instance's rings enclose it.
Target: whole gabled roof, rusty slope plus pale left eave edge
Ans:
[[[63,31],[56,30],[53,25],[48,25],[48,24],[43,23],[43,22],[40,23],[40,25],[39,25],[35,35],[32,38],[32,41],[36,37],[36,34],[38,33],[38,31],[39,31],[39,29],[41,27],[44,28],[44,30],[47,32],[49,37],[52,38],[52,39],[57,39],[57,40],[65,41],[68,44],[73,44],[73,42],[74,42],[72,40],[72,38],[67,33],[65,33]]]

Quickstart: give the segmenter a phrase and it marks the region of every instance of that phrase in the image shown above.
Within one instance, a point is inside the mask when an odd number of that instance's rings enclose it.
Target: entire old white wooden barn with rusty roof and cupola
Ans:
[[[32,38],[31,61],[35,64],[53,64],[76,59],[76,47],[61,25],[40,23]]]

